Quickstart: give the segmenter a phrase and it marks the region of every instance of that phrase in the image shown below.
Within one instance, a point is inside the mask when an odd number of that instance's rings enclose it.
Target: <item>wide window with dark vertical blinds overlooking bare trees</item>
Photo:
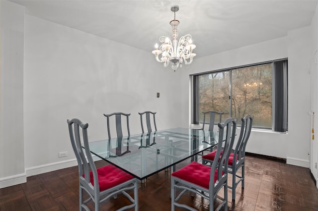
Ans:
[[[216,110],[222,120],[250,114],[254,128],[287,131],[287,59],[194,75],[193,91],[195,124]]]

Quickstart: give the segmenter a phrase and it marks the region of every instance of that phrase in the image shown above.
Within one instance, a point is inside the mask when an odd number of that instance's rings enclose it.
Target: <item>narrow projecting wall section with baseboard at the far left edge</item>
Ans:
[[[0,1],[0,26],[1,188],[4,183],[26,182],[23,148],[24,7]]]

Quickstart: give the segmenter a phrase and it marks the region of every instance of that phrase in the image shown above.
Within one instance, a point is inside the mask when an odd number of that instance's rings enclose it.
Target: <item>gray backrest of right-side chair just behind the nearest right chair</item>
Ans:
[[[245,148],[249,139],[250,132],[252,130],[253,116],[246,115],[241,119],[241,121],[242,123],[239,133],[239,139],[234,150],[234,158],[237,156],[238,160],[245,157]]]

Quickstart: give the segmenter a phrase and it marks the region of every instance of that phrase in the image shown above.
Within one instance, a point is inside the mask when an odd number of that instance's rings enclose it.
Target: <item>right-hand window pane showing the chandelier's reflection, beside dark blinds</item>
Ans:
[[[271,128],[271,63],[232,70],[232,117],[240,120],[247,114],[254,116],[253,126]]]

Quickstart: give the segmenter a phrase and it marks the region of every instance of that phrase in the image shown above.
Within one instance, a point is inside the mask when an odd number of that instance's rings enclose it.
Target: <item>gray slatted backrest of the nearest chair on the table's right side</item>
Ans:
[[[218,181],[220,181],[220,179],[223,177],[223,173],[224,174],[228,173],[228,161],[229,161],[231,149],[233,147],[234,140],[235,140],[237,122],[238,122],[237,119],[227,118],[224,123],[218,124],[219,140],[218,140],[218,147],[217,147],[217,153],[215,155],[215,158],[220,158],[222,150],[223,150],[223,153],[220,159],[215,159],[212,162],[211,174],[210,174],[210,187],[212,187],[211,185],[214,186],[214,178],[215,178],[216,169],[218,169],[218,173],[216,175]],[[224,133],[226,133],[225,139],[224,139]],[[222,143],[224,144],[222,145]]]

